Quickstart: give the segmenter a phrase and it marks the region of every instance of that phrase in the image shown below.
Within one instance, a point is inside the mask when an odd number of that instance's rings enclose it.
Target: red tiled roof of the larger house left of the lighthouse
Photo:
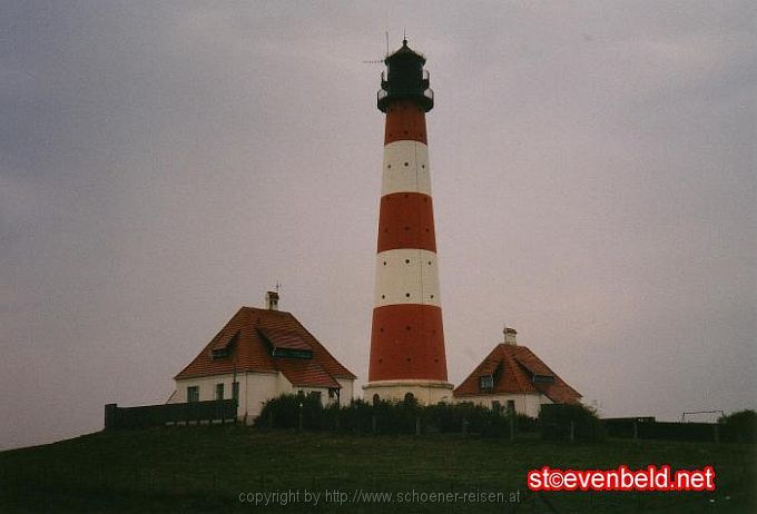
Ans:
[[[312,358],[272,356],[272,346],[307,350]],[[213,358],[214,350],[227,356]],[[175,379],[258,372],[283,373],[294,386],[340,387],[337,378],[355,379],[289,313],[242,307]]]

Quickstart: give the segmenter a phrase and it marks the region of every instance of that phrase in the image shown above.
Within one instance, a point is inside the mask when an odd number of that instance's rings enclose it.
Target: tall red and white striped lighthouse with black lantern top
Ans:
[[[402,41],[384,62],[386,113],[367,401],[452,399],[446,382],[425,113],[433,91],[425,58]]]

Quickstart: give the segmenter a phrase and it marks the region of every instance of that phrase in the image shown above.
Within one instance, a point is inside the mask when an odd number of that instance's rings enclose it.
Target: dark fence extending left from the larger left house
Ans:
[[[223,424],[234,423],[236,417],[236,399],[144,405],[140,407],[119,407],[117,404],[108,404],[105,406],[105,429],[201,423]]]

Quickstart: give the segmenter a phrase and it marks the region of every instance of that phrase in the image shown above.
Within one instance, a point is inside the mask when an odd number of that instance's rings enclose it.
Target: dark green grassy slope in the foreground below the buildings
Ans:
[[[715,493],[542,493],[525,474],[543,465],[674,469],[712,465]],[[0,512],[755,512],[755,446],[659,441],[567,444],[535,438],[357,436],[177,427],[90,434],[0,453]],[[305,491],[321,493],[318,506]],[[520,491],[518,503],[325,503],[325,491]],[[240,493],[299,491],[285,507]],[[395,496],[396,498],[396,496]]]

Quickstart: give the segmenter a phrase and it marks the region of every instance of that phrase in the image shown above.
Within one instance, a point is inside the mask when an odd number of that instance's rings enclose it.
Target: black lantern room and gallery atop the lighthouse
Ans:
[[[429,72],[423,69],[425,58],[414,52],[402,40],[402,48],[386,59],[386,77],[381,73],[377,93],[378,110],[386,112],[395,100],[410,100],[429,112],[434,107],[434,91],[429,88]]]

